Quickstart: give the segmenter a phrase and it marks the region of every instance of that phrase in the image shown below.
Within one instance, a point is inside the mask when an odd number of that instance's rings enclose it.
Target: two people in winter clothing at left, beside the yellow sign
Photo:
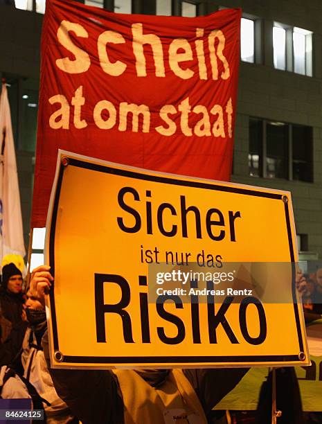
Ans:
[[[47,328],[44,302],[23,286],[22,269],[15,263],[4,265],[0,287],[0,396],[31,398],[33,409],[44,409],[48,424],[78,423],[57,395],[48,372],[42,349]]]

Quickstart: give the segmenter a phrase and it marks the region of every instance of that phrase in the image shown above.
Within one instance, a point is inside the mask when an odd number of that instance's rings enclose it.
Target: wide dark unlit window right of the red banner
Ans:
[[[249,118],[249,175],[313,182],[312,127]]]

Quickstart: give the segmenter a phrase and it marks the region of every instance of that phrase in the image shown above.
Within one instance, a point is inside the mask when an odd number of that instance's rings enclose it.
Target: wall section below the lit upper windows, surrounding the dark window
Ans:
[[[254,64],[240,67],[233,181],[291,191],[297,233],[322,258],[322,81]],[[313,183],[249,177],[249,116],[314,127]]]

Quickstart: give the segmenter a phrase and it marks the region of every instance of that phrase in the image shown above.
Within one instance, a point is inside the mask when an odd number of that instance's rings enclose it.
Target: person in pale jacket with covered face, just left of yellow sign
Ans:
[[[0,347],[1,398],[31,398],[35,409],[44,409],[47,424],[78,424],[66,403],[57,396],[49,375],[42,336],[46,330],[44,305],[26,292],[24,327],[12,328],[10,337]],[[36,403],[35,403],[36,401]]]

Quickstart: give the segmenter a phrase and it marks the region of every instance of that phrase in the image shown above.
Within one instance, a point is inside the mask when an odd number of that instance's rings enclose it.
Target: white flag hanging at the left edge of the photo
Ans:
[[[7,87],[2,85],[0,97],[0,260],[6,254],[25,256],[24,231],[15,144],[12,136]]]

